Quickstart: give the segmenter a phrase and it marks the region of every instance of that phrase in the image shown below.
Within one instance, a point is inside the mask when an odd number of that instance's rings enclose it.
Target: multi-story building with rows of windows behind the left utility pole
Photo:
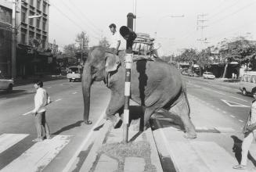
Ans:
[[[0,67],[2,61],[6,64],[11,62],[11,54],[6,53],[11,52],[12,5],[12,0],[0,2]],[[1,39],[3,37],[4,41]],[[51,56],[46,51],[49,48],[49,0],[16,0],[16,43],[18,77],[47,70]],[[5,55],[1,55],[4,52],[1,49],[5,49]]]

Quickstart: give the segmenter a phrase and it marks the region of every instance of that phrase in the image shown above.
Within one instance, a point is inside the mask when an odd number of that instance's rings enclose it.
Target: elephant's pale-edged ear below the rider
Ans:
[[[106,72],[111,72],[117,70],[120,65],[120,59],[117,55],[112,54],[110,52],[105,52],[106,56]]]

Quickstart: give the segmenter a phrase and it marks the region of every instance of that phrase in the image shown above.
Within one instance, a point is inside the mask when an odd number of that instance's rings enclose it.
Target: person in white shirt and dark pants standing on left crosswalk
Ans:
[[[42,81],[35,82],[34,88],[36,89],[36,93],[34,95],[34,110],[32,112],[34,115],[35,126],[38,132],[38,138],[35,138],[32,142],[43,141],[42,127],[45,128],[46,138],[47,139],[51,138],[49,126],[45,118],[45,113],[46,113],[45,106],[49,103],[48,94],[45,91],[45,89],[42,87],[43,87]]]

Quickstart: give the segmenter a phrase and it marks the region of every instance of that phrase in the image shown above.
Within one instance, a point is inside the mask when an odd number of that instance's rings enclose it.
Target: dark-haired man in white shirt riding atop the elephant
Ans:
[[[121,45],[121,36],[117,33],[117,26],[114,23],[110,24],[110,49],[117,54]]]

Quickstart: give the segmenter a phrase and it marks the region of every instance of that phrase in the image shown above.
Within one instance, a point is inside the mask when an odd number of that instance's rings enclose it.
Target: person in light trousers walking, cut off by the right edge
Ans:
[[[234,169],[245,170],[247,167],[247,156],[251,143],[255,140],[256,136],[256,91],[254,92],[254,101],[252,101],[251,111],[248,115],[247,122],[243,127],[243,144],[242,144],[242,159],[240,164],[234,166]]]

